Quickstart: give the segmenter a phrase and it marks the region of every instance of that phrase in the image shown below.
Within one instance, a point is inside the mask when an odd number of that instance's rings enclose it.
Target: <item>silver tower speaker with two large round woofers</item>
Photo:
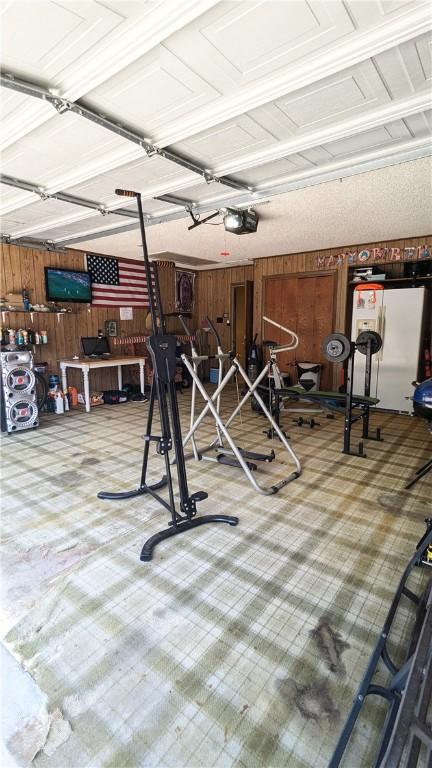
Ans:
[[[32,353],[0,352],[0,363],[2,432],[37,427],[39,414]]]

